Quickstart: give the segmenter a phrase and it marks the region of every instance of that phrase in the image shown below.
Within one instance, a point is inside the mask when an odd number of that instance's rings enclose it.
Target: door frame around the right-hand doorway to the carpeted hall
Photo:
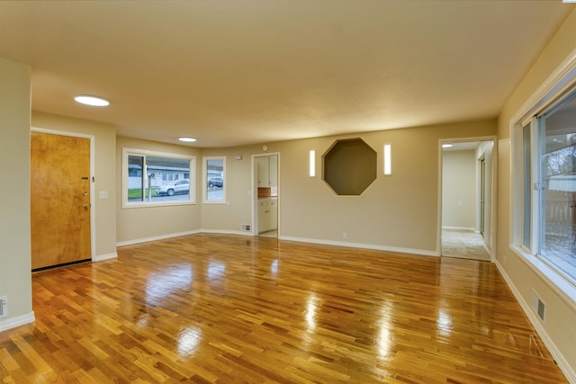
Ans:
[[[437,256],[442,256],[442,183],[443,183],[443,165],[442,165],[442,145],[447,143],[468,143],[472,141],[491,141],[492,143],[492,153],[491,153],[491,218],[490,218],[490,242],[489,242],[489,254],[491,262],[494,263],[496,260],[496,193],[498,180],[497,170],[498,170],[498,138],[496,136],[480,136],[471,138],[440,138],[438,139],[438,202],[437,202]],[[483,156],[485,159],[485,156]],[[478,160],[478,159],[477,159]],[[484,223],[486,224],[486,223]]]

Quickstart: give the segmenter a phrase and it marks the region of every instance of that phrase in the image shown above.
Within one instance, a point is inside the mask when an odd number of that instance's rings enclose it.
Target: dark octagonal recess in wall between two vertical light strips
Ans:
[[[360,195],[376,180],[376,162],[362,138],[339,139],[322,156],[322,179],[338,195]]]

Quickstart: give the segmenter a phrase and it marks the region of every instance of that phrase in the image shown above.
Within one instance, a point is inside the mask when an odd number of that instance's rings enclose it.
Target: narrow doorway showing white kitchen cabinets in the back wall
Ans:
[[[279,154],[252,156],[253,234],[278,237]]]

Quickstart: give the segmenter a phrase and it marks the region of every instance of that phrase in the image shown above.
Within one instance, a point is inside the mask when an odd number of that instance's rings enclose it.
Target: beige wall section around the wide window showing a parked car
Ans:
[[[196,172],[201,174],[202,160],[200,151],[193,147],[176,146],[138,138],[118,137],[116,153],[112,156],[116,161],[114,168],[114,192],[116,199],[116,240],[120,244],[130,244],[136,241],[152,240],[188,234],[202,228],[202,212],[200,200],[193,205],[173,205],[166,207],[122,208],[122,148],[142,149],[164,153],[196,156]],[[199,178],[196,181],[200,183]],[[200,191],[196,191],[200,193]],[[198,195],[197,195],[198,196]]]

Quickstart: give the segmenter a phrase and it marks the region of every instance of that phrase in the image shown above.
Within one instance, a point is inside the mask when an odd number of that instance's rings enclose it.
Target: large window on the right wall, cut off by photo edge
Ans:
[[[536,113],[517,139],[523,170],[517,238],[576,286],[576,91]]]

